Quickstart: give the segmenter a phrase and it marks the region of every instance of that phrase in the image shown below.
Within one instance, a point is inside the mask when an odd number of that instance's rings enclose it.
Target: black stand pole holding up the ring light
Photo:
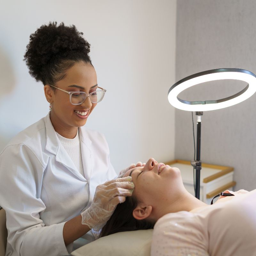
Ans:
[[[195,197],[199,199],[200,197],[200,172],[202,169],[202,163],[200,160],[200,150],[201,150],[201,116],[203,111],[196,111],[197,124],[196,124],[196,161],[191,161],[191,165],[196,167],[196,184],[195,184]]]

